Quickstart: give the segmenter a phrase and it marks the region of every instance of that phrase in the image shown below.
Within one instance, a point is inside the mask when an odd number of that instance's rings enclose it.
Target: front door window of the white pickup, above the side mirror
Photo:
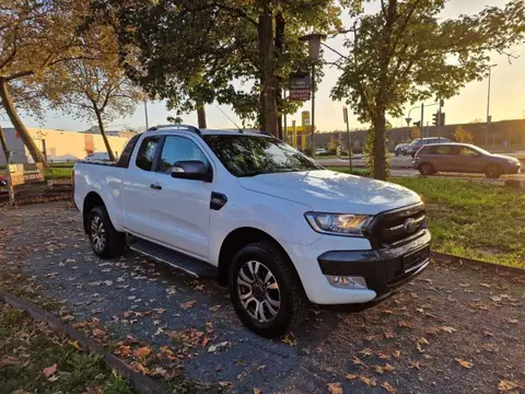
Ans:
[[[173,164],[186,160],[198,160],[206,165],[209,165],[205,153],[202,153],[200,148],[194,141],[184,137],[166,137],[158,171],[170,173]]]

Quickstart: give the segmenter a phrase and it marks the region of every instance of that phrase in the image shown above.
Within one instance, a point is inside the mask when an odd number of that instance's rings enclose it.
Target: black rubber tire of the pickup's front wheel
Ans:
[[[259,263],[258,274],[261,277],[268,277],[267,270],[272,274],[275,282],[271,281],[271,286],[277,283],[278,289],[269,289],[265,283],[260,285],[262,289],[257,289],[258,286],[256,281],[253,281],[254,287],[245,287],[240,285],[237,288],[237,282],[243,281],[244,279],[240,277],[240,271],[243,269],[244,274],[249,271],[249,264]],[[245,275],[246,276],[246,275]],[[255,276],[252,276],[249,279],[254,279]],[[300,279],[292,267],[292,262],[284,255],[278,247],[268,242],[257,242],[244,246],[237,254],[233,257],[233,262],[229,270],[229,290],[230,298],[233,303],[233,308],[237,313],[238,317],[243,324],[252,329],[257,335],[260,335],[265,338],[275,338],[284,334],[291,327],[296,326],[303,318],[306,316],[308,311],[308,302],[306,301],[306,296],[300,282]],[[260,303],[256,299],[256,290],[259,291],[259,298],[261,299]],[[245,302],[246,308],[243,305],[241,300],[241,292],[246,291],[243,296],[252,294]],[[271,293],[270,293],[271,292]],[[275,302],[277,300],[277,293],[279,296],[280,305],[276,312],[273,306],[273,316],[271,317],[271,311],[269,302],[266,301],[267,298],[271,298]],[[271,297],[270,297],[271,294]],[[245,298],[246,300],[246,298]],[[266,305],[262,306],[262,303],[266,302]],[[255,303],[255,304],[254,304]],[[254,316],[252,316],[248,311],[257,305],[260,305],[262,318],[270,316],[271,320],[267,322],[261,322]],[[266,310],[265,310],[266,309]],[[253,311],[258,316],[256,312]]]

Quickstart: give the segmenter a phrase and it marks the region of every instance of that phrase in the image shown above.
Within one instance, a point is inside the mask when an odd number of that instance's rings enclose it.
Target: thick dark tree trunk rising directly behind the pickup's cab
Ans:
[[[260,85],[264,94],[262,127],[271,135],[279,137],[277,129],[276,76],[273,67],[273,24],[268,0],[264,1],[264,11],[259,15],[259,60],[261,68]]]

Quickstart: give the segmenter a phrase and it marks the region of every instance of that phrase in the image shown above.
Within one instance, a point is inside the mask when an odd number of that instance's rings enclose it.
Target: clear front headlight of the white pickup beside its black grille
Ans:
[[[312,229],[319,233],[364,236],[364,230],[373,217],[366,215],[338,215],[307,212],[304,215]]]

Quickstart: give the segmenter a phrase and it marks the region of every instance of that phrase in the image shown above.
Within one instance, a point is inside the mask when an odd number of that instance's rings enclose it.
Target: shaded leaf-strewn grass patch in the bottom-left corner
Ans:
[[[36,323],[24,312],[0,304],[0,393],[84,393],[98,386],[104,394],[132,393],[118,374],[105,369],[102,357],[75,349],[66,337]],[[57,372],[44,369],[57,364]]]

